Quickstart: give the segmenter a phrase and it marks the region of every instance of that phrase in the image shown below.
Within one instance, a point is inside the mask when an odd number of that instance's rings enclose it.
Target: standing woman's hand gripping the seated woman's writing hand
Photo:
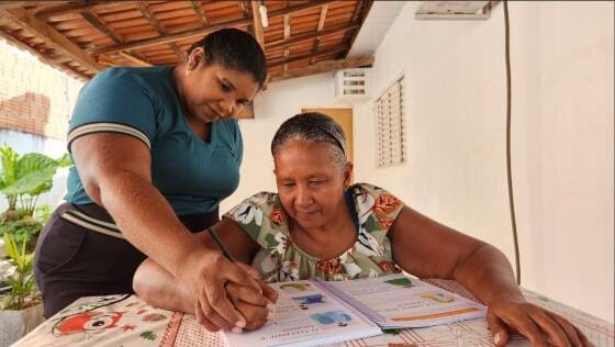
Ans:
[[[246,318],[228,299],[226,284],[246,289],[237,291],[236,299],[248,303],[265,300],[262,288],[253,276],[220,251],[203,247],[198,247],[186,258],[178,279],[194,301],[198,322],[210,332],[222,328],[241,333],[247,325]],[[249,298],[244,298],[246,294]]]

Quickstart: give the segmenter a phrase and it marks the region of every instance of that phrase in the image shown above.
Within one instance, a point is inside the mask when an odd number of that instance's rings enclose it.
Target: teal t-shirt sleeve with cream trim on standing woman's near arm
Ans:
[[[72,141],[92,133],[133,136],[147,148],[156,133],[155,100],[150,91],[126,69],[109,68],[79,93],[68,131]]]

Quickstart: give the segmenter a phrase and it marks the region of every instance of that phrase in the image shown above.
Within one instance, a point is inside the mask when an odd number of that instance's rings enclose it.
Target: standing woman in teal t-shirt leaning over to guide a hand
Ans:
[[[149,257],[185,286],[205,327],[242,329],[224,286],[260,294],[262,284],[191,233],[219,221],[220,201],[237,188],[243,142],[231,117],[266,75],[254,37],[226,29],[175,68],[109,68],[82,88],[68,133],[67,203],[36,249],[46,317],[80,296],[131,293]]]

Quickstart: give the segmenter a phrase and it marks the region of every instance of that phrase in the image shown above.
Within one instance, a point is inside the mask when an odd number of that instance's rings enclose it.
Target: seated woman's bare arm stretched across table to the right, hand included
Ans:
[[[590,346],[567,320],[525,301],[511,264],[495,247],[441,225],[404,206],[389,234],[393,258],[421,278],[455,279],[489,306],[488,324],[497,346],[513,327],[533,346]]]

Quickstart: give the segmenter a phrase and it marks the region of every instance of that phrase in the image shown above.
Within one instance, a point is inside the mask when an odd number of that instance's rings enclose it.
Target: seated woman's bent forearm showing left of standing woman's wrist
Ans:
[[[133,290],[153,306],[194,314],[194,304],[188,292],[172,275],[152,259],[143,261],[136,270]]]

